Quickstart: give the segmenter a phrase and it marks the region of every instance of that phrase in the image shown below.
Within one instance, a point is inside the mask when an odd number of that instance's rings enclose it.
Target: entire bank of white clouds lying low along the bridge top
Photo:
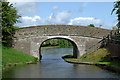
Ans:
[[[104,25],[100,19],[94,17],[77,17],[71,19],[70,12],[60,12],[57,13],[56,15],[54,13],[51,13],[49,17],[43,19],[40,18],[40,16],[34,17],[24,16],[20,20],[22,21],[22,23],[18,24],[20,27],[37,25],[55,25],[55,24],[82,25],[82,26],[94,24],[96,27],[99,27],[99,25],[101,24]]]

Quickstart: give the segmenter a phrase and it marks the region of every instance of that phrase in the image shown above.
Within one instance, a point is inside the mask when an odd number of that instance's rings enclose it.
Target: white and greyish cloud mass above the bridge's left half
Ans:
[[[16,24],[17,26],[36,26],[36,25],[52,25],[52,24],[67,24],[70,22],[71,12],[64,11],[57,14],[51,13],[47,18],[40,18],[40,16],[23,16],[21,17],[21,22]]]

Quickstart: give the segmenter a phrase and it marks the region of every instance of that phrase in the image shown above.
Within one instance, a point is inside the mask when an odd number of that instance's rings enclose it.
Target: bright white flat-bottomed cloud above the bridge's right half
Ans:
[[[96,26],[99,26],[103,24],[103,22],[100,19],[97,19],[94,17],[77,17],[77,18],[71,19],[68,24],[69,25],[83,25],[83,26],[94,24]]]

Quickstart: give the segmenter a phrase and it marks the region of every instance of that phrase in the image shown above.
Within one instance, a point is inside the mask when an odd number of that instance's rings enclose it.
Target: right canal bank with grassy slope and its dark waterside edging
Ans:
[[[103,69],[120,73],[119,59],[111,58],[107,48],[101,48],[91,53],[87,57],[85,57],[85,55],[83,55],[79,59],[73,58],[72,55],[66,55],[63,56],[62,58],[64,59],[64,61],[68,63],[96,65]]]

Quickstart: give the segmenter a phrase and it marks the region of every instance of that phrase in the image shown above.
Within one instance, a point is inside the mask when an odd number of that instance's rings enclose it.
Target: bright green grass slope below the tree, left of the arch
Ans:
[[[24,64],[26,62],[37,62],[37,58],[29,55],[29,54],[25,54],[21,51],[18,51],[16,49],[13,48],[8,48],[8,47],[4,47],[2,46],[2,67],[7,66],[9,63],[21,63]]]

